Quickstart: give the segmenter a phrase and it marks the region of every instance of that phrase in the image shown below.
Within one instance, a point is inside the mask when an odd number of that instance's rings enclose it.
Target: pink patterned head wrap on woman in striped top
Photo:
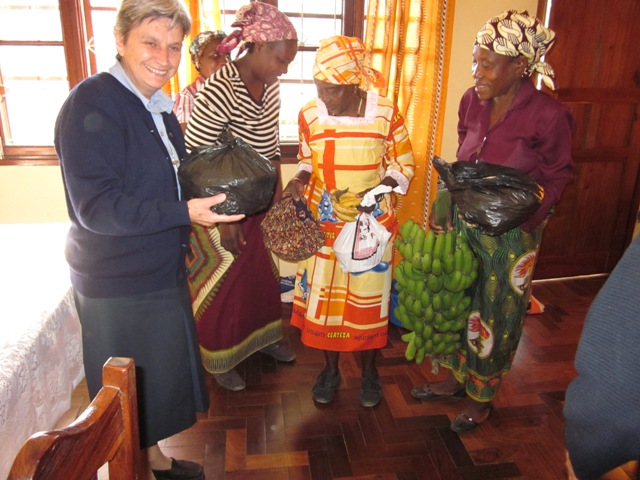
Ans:
[[[240,45],[240,54],[247,43],[298,40],[291,20],[268,3],[252,2],[240,7],[231,26],[238,30],[234,30],[218,45],[219,52],[229,53]]]

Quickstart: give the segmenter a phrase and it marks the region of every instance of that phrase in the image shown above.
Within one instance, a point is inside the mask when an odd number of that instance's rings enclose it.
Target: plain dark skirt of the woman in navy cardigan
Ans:
[[[179,433],[209,405],[186,286],[119,298],[75,292],[84,368],[93,398],[109,357],[136,364],[141,448]]]

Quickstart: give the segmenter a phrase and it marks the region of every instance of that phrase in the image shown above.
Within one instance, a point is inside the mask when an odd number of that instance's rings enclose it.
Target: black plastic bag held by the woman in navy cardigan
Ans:
[[[178,167],[178,179],[186,199],[226,193],[227,199],[211,210],[223,215],[251,215],[269,207],[277,174],[267,158],[225,130],[219,144],[191,151]]]

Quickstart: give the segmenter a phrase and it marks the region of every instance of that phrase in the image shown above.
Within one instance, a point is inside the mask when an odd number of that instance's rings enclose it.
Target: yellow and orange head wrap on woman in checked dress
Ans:
[[[375,87],[383,86],[382,74],[364,66],[364,52],[359,38],[336,35],[320,40],[313,78],[336,85],[360,85],[364,78]]]

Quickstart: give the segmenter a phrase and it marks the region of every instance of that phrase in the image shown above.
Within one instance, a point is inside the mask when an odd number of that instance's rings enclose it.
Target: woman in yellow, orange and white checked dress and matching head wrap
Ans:
[[[325,352],[313,398],[331,402],[340,384],[339,352],[362,351],[360,403],[373,407],[382,399],[375,357],[387,344],[392,242],[380,265],[359,274],[343,272],[332,247],[345,222],[363,209],[358,205],[366,192],[384,185],[406,193],[414,162],[398,107],[360,88],[383,81],[363,59],[357,38],[321,40],[313,67],[318,98],[300,111],[299,167],[285,195],[304,195],[325,233],[320,251],[298,264],[291,318],[302,342]],[[376,196],[367,210],[387,230],[396,230],[389,194]]]

